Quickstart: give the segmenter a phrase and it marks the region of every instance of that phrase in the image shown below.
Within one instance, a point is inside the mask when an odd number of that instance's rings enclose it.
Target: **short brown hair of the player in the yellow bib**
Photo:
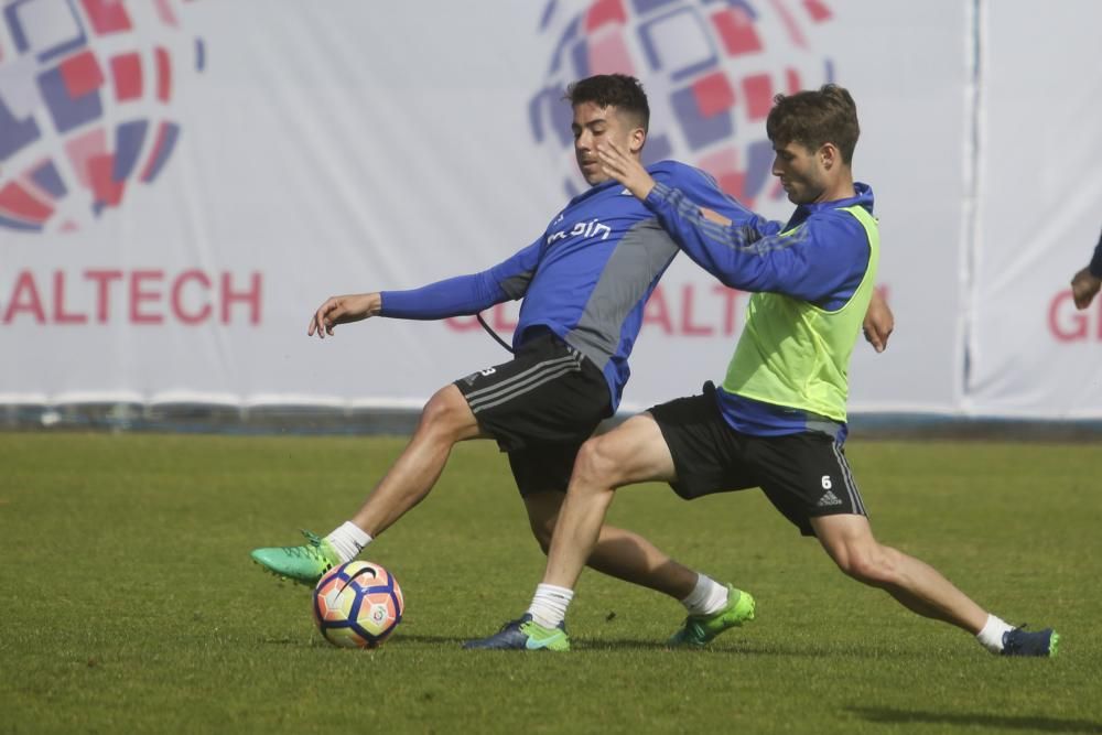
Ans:
[[[846,165],[853,160],[853,149],[861,136],[857,106],[844,87],[827,84],[819,89],[777,95],[773,99],[765,129],[774,145],[797,142],[818,151],[834,143]]]

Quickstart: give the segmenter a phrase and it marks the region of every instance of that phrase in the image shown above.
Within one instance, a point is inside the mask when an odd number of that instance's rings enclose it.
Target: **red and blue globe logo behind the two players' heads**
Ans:
[[[820,0],[595,0],[566,17],[551,0],[540,31],[552,39],[547,84],[530,104],[537,142],[562,156],[566,193],[573,173],[570,82],[593,74],[638,77],[651,108],[644,162],[674,158],[712,174],[747,206],[780,198],[770,182],[773,147],[765,118],[778,93],[834,77],[809,31],[831,19]]]

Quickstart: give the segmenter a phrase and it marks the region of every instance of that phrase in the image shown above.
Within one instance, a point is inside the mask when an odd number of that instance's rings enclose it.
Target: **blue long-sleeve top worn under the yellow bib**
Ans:
[[[730,225],[711,221],[700,212],[703,203],[661,182],[648,194],[646,205],[685,255],[725,285],[781,293],[835,311],[853,296],[868,267],[868,236],[856,217],[842,209],[860,205],[872,214],[873,190],[856,183],[854,193],[845,199],[801,204],[785,225],[756,215],[732,218]],[[845,424],[827,417],[722,388],[715,392],[724,420],[743,433],[777,436],[820,431],[839,443],[845,441]]]

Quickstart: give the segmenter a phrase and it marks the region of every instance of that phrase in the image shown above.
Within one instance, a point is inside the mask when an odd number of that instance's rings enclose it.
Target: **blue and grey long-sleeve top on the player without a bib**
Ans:
[[[754,217],[698,169],[662,161],[647,170],[733,221]],[[615,410],[647,299],[677,253],[655,214],[608,181],[575,196],[534,242],[489,270],[411,291],[383,291],[380,314],[437,320],[523,299],[514,346],[536,327],[551,329],[604,372]]]

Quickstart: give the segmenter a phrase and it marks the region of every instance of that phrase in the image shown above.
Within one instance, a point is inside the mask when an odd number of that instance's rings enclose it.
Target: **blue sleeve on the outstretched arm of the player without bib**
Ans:
[[[383,291],[380,316],[440,320],[476,314],[494,304],[520,299],[539,262],[542,238],[489,270],[436,281],[409,291]]]

